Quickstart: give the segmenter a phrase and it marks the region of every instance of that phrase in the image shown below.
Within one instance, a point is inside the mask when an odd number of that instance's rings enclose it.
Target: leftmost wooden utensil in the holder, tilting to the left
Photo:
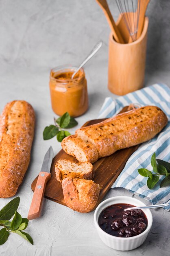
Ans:
[[[124,43],[122,35],[120,34],[120,31],[116,27],[116,23],[113,19],[113,16],[111,15],[109,6],[107,4],[107,0],[96,0],[96,2],[98,2],[100,7],[102,8],[103,12],[105,13],[105,16],[107,18],[107,22],[109,23],[109,26],[110,26],[111,31],[113,33],[113,37],[115,38],[116,42]]]

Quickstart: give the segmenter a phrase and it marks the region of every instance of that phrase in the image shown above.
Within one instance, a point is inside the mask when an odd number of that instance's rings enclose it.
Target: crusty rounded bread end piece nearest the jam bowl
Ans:
[[[92,180],[65,178],[62,181],[65,203],[74,211],[93,211],[100,193],[100,186]]]

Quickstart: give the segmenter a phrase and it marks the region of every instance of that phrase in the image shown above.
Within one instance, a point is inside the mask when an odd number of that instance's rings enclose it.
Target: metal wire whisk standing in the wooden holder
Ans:
[[[141,0],[116,0],[116,4],[129,31],[131,40],[137,39]]]

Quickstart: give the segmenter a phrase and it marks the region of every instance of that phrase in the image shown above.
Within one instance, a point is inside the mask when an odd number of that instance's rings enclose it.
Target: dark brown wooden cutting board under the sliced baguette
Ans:
[[[126,112],[128,107],[124,107],[122,112]],[[96,124],[105,119],[95,119],[91,121],[87,121],[83,126],[88,126],[91,124]],[[101,187],[101,191],[98,197],[98,202],[95,208],[100,204],[102,198],[106,195],[107,191],[110,189],[111,185],[117,179],[118,175],[123,170],[127,160],[129,157],[137,150],[137,146],[133,146],[131,148],[125,148],[122,150],[116,151],[114,154],[110,155],[109,157],[103,157],[98,159],[97,162],[93,164],[95,170],[94,182],[98,183]],[[53,158],[52,165],[51,165],[51,179],[48,181],[46,185],[46,190],[44,193],[44,197],[48,198],[54,202],[59,204],[63,204],[66,206],[64,197],[63,197],[63,190],[61,183],[56,180],[55,177],[55,164],[59,159],[68,159],[74,162],[78,162],[74,157],[66,154],[63,150],[60,150],[59,153]],[[37,183],[37,178],[31,184],[31,189],[35,190],[35,186]],[[94,208],[94,209],[95,209]]]

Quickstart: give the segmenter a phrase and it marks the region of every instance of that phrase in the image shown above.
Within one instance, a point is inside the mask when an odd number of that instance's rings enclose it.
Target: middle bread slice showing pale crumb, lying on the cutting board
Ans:
[[[60,159],[55,165],[55,174],[59,182],[62,182],[67,177],[92,180],[94,178],[94,169],[90,162],[75,163]]]

